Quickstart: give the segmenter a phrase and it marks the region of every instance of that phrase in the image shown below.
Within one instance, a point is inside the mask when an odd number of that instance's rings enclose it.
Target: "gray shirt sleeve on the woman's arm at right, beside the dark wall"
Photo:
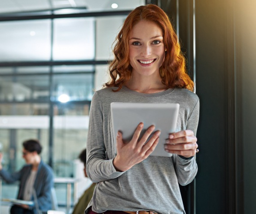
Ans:
[[[196,136],[199,122],[199,99],[194,106],[192,113],[187,121],[186,129],[192,130]],[[197,174],[198,167],[195,156],[191,159],[184,159],[178,155],[173,155],[174,163],[176,163],[176,173],[179,184],[185,186],[190,184]]]

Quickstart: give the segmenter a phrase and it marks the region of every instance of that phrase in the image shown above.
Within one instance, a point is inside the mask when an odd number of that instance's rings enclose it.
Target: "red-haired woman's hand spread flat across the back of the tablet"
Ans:
[[[154,131],[155,127],[153,125],[146,130],[146,133],[141,137],[141,140],[138,141],[143,125],[143,123],[140,123],[137,126],[132,140],[129,143],[124,143],[122,133],[117,133],[117,155],[113,160],[114,167],[117,171],[126,171],[137,163],[141,163],[141,161],[145,160],[154,151],[158,144],[160,131],[156,131],[145,144],[150,134]]]

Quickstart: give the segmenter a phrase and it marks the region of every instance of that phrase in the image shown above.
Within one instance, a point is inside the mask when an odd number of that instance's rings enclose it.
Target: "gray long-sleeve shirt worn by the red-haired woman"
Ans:
[[[94,212],[106,210],[153,210],[159,214],[184,214],[178,184],[189,184],[197,173],[195,158],[149,156],[128,171],[118,172],[110,103],[179,103],[177,130],[190,129],[196,135],[199,98],[186,89],[168,89],[155,94],[141,94],[127,87],[97,91],[92,100],[87,139],[87,174],[97,182],[89,206]],[[116,89],[116,88],[115,88]],[[156,112],[157,113],[157,112]]]

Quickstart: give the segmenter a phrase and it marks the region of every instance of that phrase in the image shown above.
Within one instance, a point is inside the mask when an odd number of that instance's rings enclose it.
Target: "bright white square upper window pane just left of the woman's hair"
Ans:
[[[55,19],[53,36],[53,60],[94,59],[94,18]]]

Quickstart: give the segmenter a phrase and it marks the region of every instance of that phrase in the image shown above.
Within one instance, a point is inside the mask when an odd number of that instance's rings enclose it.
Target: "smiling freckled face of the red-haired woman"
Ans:
[[[139,21],[129,36],[129,58],[135,75],[159,75],[165,47],[163,31],[152,21]]]

